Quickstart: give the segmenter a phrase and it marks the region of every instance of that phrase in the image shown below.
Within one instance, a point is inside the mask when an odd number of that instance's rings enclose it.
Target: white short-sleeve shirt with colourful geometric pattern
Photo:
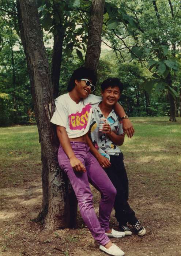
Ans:
[[[100,118],[105,118],[99,108],[99,104],[93,105],[93,114],[90,124],[90,135],[94,147],[97,148],[99,153],[104,157],[110,159],[109,155],[118,155],[121,150],[115,145],[109,138],[108,135],[99,131],[99,120]],[[121,135],[123,132],[122,121],[120,117],[114,112],[114,109],[109,113],[109,116],[106,118],[107,122],[110,124],[111,130],[118,135]]]

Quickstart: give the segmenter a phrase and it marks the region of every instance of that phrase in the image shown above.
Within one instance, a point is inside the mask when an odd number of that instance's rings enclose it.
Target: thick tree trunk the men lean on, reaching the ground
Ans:
[[[57,162],[58,147],[52,143],[52,140],[56,139],[56,133],[50,123],[54,112],[53,88],[39,22],[37,1],[18,0],[17,3],[19,29],[26,54],[41,143],[43,200],[42,211],[37,220],[42,221],[44,228],[47,229],[73,226],[76,214],[70,210],[69,202],[75,195],[68,193],[69,182],[67,177],[63,179],[63,173]],[[73,221],[70,217],[71,213]]]

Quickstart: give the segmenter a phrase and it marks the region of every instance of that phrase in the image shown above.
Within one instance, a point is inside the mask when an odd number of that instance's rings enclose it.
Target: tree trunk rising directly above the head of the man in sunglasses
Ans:
[[[93,0],[88,27],[85,67],[97,71],[101,54],[101,33],[105,0]]]

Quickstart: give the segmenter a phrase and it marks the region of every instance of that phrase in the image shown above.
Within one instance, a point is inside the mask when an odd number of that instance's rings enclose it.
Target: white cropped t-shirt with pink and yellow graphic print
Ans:
[[[101,97],[90,94],[77,104],[69,93],[55,99],[55,112],[50,122],[66,128],[69,138],[77,138],[86,134],[90,127],[92,106],[101,101]]]

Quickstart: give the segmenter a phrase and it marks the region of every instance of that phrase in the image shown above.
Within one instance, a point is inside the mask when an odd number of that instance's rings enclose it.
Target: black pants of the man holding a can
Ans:
[[[114,202],[114,210],[116,212],[116,219],[119,225],[125,225],[127,222],[133,225],[137,219],[135,212],[128,204],[128,177],[123,162],[123,154],[110,155],[111,166],[105,168],[105,172],[112,181],[117,190],[116,199]]]

